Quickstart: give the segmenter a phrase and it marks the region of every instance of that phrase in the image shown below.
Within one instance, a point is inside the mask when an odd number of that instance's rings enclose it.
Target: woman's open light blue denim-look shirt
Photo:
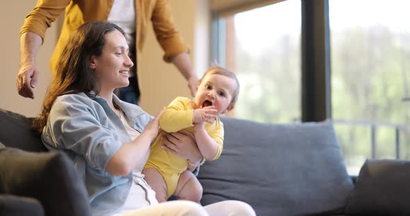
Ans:
[[[114,94],[113,102],[138,132],[152,118]],[[104,98],[90,98],[85,93],[59,96],[41,138],[49,150],[63,150],[74,161],[88,190],[92,215],[109,215],[124,204],[133,181],[132,172],[115,177],[105,168],[122,143],[131,142],[131,138]]]

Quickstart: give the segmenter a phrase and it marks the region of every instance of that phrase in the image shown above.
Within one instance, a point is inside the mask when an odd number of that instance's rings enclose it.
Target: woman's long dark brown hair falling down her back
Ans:
[[[99,92],[95,73],[91,69],[92,56],[99,56],[105,44],[104,36],[113,30],[119,30],[124,35],[124,30],[115,24],[104,21],[85,23],[72,32],[67,45],[63,49],[57,67],[56,77],[51,80],[50,87],[42,104],[42,111],[33,121],[36,132],[42,133],[47,124],[51,106],[58,96],[65,93],[89,93],[94,90]]]

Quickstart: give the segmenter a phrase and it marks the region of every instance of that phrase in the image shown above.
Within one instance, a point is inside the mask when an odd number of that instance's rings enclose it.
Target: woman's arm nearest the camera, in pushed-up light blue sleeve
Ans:
[[[57,98],[42,139],[50,147],[82,155],[91,168],[113,175],[128,174],[136,163],[146,160],[163,111],[145,126],[138,138],[122,143],[115,128],[101,125],[99,116],[104,115],[104,110],[96,104],[78,95]]]

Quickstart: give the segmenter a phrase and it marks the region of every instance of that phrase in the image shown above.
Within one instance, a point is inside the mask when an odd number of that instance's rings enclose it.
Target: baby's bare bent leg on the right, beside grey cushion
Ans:
[[[192,172],[185,170],[181,173],[178,180],[177,190],[174,195],[179,200],[190,200],[199,202],[202,198],[202,186],[197,177]]]

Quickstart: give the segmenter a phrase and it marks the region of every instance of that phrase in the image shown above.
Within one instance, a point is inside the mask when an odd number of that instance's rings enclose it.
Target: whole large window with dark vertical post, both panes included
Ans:
[[[350,174],[368,158],[410,159],[408,8],[406,0],[287,0],[216,17],[213,58],[241,84],[231,116],[331,117]],[[303,107],[301,89],[311,93]]]

